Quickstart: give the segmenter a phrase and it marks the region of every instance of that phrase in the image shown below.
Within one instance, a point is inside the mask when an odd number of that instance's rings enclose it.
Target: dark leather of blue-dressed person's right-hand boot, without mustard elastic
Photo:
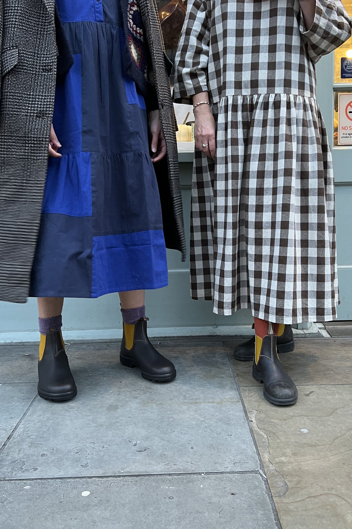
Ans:
[[[134,341],[131,349],[126,348],[124,326],[120,362],[126,367],[139,367],[142,377],[155,382],[167,382],[176,377],[174,364],[163,357],[149,341],[147,318],[141,318],[135,324]]]

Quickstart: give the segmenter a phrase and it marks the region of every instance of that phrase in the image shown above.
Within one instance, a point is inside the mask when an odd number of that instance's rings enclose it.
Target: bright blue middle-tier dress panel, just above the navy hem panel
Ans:
[[[63,154],[62,158],[49,159],[43,213],[74,217],[92,214],[90,152]]]

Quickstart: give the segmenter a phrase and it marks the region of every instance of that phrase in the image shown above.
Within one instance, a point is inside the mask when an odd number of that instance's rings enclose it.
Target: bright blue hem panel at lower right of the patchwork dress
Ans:
[[[93,238],[92,297],[167,286],[164,232]]]

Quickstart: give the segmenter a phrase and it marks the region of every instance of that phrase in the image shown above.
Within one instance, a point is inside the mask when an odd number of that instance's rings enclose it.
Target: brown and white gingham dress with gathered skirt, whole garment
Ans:
[[[334,176],[314,64],[351,35],[339,0],[188,0],[174,97],[208,91],[216,158],[195,152],[194,299],[277,323],[336,318]]]

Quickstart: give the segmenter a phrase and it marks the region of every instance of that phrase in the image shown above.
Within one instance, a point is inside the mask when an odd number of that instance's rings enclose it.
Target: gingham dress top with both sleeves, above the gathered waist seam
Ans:
[[[298,0],[188,0],[174,97],[205,90],[211,102],[250,94],[315,97],[313,63],[350,34],[340,0],[317,0],[309,31]]]

